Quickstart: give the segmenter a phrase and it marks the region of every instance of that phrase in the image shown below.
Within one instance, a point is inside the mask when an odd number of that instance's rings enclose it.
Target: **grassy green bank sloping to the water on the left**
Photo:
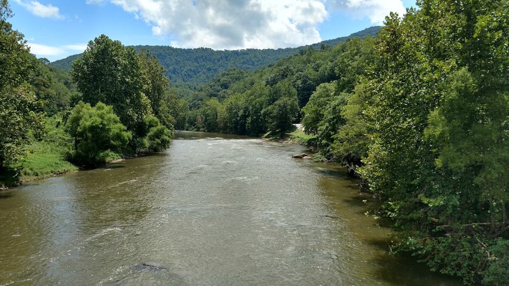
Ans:
[[[26,181],[47,178],[78,170],[67,162],[62,151],[47,142],[35,142],[20,162],[6,166],[0,173],[0,187],[14,187]]]

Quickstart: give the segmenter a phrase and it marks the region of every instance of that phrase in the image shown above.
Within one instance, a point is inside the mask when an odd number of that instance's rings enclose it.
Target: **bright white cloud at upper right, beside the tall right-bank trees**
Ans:
[[[340,10],[354,19],[369,18],[372,24],[381,25],[390,12],[402,17],[406,9],[401,0],[329,0],[328,8]]]

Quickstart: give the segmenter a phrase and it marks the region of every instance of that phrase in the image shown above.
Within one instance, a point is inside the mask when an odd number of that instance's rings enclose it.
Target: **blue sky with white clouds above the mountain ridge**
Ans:
[[[9,0],[38,58],[83,52],[104,34],[123,45],[214,50],[299,47],[382,25],[415,0]]]

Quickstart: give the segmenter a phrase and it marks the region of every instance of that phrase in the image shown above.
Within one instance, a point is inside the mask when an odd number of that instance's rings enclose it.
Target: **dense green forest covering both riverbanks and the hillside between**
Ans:
[[[285,137],[300,122],[315,160],[348,165],[383,202],[369,214],[392,222],[391,252],[466,284],[507,285],[506,1],[419,1],[375,37],[303,47],[256,70],[226,65],[184,94],[169,61],[105,35],[70,75],[51,67],[29,54],[1,3],[3,182],[36,172],[42,153],[94,166],[161,150],[175,129]],[[228,54],[211,52],[193,51],[210,67]]]

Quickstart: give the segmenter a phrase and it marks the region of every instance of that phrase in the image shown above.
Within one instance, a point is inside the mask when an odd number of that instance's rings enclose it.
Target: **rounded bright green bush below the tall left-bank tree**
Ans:
[[[101,102],[95,107],[79,102],[71,111],[66,130],[74,139],[72,160],[88,166],[106,163],[107,151],[120,152],[131,139],[112,106]]]

